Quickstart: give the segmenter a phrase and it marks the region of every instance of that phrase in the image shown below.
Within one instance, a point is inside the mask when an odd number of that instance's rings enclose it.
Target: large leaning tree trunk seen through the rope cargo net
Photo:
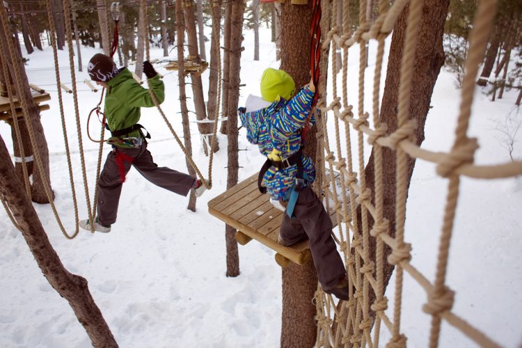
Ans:
[[[411,102],[409,106],[410,118],[417,120],[418,123],[416,134],[414,134],[414,136],[416,136],[417,145],[420,145],[425,139],[424,127],[429,111],[429,104],[432,99],[433,88],[438,73],[444,63],[442,39],[449,3],[450,0],[425,0],[422,6],[415,65],[413,66],[413,81],[410,91]],[[400,90],[400,67],[408,14],[409,7],[406,6],[395,23],[390,45],[390,54],[388,56],[388,74],[386,74],[386,84],[383,91],[380,115],[381,122],[388,125],[388,134],[395,132],[397,129],[397,99]],[[390,221],[390,235],[395,237],[396,157],[395,151],[389,148],[383,148],[382,152],[384,185],[383,216]],[[406,171],[406,185],[408,188],[414,166],[415,159],[409,157]],[[374,152],[372,149],[370,159],[365,168],[367,187],[371,189],[372,193],[375,192],[374,171]],[[372,197],[372,203],[374,203],[374,197]],[[358,219],[358,221],[361,221],[361,219]],[[373,221],[370,221],[370,223],[373,223]],[[370,260],[375,259],[375,247],[376,244],[372,241],[372,243],[370,243]],[[383,260],[376,260],[376,262],[384,262],[385,288],[393,272],[393,265],[388,264],[386,261],[390,252],[391,249],[385,244]],[[373,303],[374,296],[374,293],[370,291],[370,303]]]

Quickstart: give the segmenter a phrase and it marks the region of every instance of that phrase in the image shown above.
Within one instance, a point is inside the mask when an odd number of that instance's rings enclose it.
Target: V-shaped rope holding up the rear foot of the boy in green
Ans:
[[[149,42],[148,42],[148,24],[147,24],[147,20],[146,20],[147,19],[146,1],[145,0],[141,0],[140,1],[140,6],[141,6],[141,9],[142,9],[142,13],[145,14],[145,33],[143,33],[143,35],[145,35],[145,40],[144,40],[145,53],[146,53],[145,56],[146,56],[147,60],[149,60],[150,59],[150,48],[149,48]],[[218,36],[218,35],[216,35],[216,36]],[[215,39],[218,40],[218,44],[219,44],[219,38],[215,38]],[[219,45],[217,47],[219,47]],[[219,51],[219,49],[218,49],[218,51]],[[178,59],[182,59],[182,58],[183,57],[181,57],[181,58],[178,57]],[[221,62],[221,58],[219,58],[219,61]],[[218,86],[219,86],[219,89],[220,89],[218,91],[218,95],[221,95],[221,63],[219,63],[219,83],[218,83]],[[183,143],[180,140],[180,137],[177,136],[174,128],[171,125],[171,122],[168,121],[164,111],[161,109],[161,106],[159,106],[157,97],[154,94],[154,91],[150,88],[150,86],[149,86],[149,94],[150,94],[150,97],[151,97],[152,101],[156,105],[156,108],[158,109],[159,113],[161,114],[161,117],[163,117],[163,119],[165,120],[168,129],[171,131],[172,135],[174,136],[174,139],[176,140],[177,144],[180,145],[180,148],[182,149],[185,157],[187,157],[187,161],[192,166],[194,171],[196,171],[198,177],[200,177],[200,180],[201,180],[202,184],[207,189],[211,189],[212,188],[212,163],[213,163],[213,158],[214,158],[214,148],[216,146],[217,122],[219,121],[219,117],[217,117],[219,115],[219,104],[217,104],[217,106],[216,106],[216,117],[214,118],[214,129],[213,129],[213,133],[212,133],[212,145],[210,146],[210,155],[209,155],[209,169],[208,169],[209,173],[208,173],[208,180],[206,180],[203,177],[203,174],[199,170],[198,166],[196,165],[196,162],[193,161],[191,154],[187,151],[187,148],[184,147]]]

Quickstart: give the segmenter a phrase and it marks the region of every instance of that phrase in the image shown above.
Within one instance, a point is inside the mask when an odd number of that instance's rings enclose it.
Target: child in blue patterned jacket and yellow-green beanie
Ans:
[[[270,166],[262,177],[271,200],[287,207],[283,214],[278,243],[291,246],[308,238],[323,290],[339,299],[348,300],[345,266],[331,237],[333,226],[330,216],[326,213],[322,200],[310,188],[315,179],[315,168],[310,157],[301,155],[300,152],[301,128],[308,120],[315,86],[310,80],[310,84],[301,88],[296,95],[294,90],[294,80],[285,71],[272,68],[264,70],[261,78],[262,101],[252,108],[249,101],[255,100],[255,97],[249,97],[246,108],[238,109],[239,118],[246,128],[246,139],[257,144],[262,155],[269,159],[279,157],[279,161],[285,163],[285,159],[299,154],[297,156],[302,164],[304,187],[296,190],[298,165],[288,161],[279,168]],[[313,118],[312,121],[314,122]],[[296,155],[293,158],[295,157]],[[298,192],[299,196],[294,203],[289,203],[294,192]],[[293,212],[290,211],[292,204],[295,204]]]

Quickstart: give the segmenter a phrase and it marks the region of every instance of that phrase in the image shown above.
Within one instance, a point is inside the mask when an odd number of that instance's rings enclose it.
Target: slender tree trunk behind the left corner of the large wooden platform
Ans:
[[[243,41],[243,12],[245,3],[243,0],[229,0],[232,6],[230,13],[230,68],[229,68],[229,93],[228,93],[228,177],[227,189],[237,185],[237,172],[239,161],[237,156],[237,117],[232,116],[239,102],[239,73],[241,72],[241,52]],[[227,248],[227,273],[228,277],[239,276],[239,254],[237,242],[234,237],[235,228],[226,226],[226,248]]]

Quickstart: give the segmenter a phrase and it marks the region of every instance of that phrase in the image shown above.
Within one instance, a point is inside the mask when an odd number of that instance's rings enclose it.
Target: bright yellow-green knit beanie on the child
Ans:
[[[268,68],[261,77],[261,97],[274,102],[279,96],[290,100],[295,90],[294,79],[284,70]]]

